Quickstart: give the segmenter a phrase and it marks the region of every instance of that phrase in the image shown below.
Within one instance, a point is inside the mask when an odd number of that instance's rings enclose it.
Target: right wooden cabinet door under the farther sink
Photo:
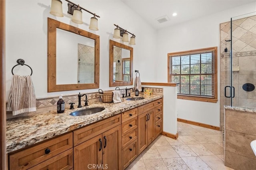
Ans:
[[[151,109],[148,113],[148,121],[147,121],[147,132],[148,132],[148,145],[153,142],[155,137],[155,109]]]

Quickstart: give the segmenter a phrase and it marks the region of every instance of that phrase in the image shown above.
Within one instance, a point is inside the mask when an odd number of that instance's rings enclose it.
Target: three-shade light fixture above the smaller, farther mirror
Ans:
[[[113,38],[121,38],[122,37],[122,42],[129,42],[129,38],[128,38],[128,33],[131,34],[131,38],[130,38],[130,45],[135,45],[135,35],[128,32],[127,30],[124,30],[123,28],[121,28],[120,26],[114,24],[114,26],[116,26],[115,30],[114,30],[114,35]]]

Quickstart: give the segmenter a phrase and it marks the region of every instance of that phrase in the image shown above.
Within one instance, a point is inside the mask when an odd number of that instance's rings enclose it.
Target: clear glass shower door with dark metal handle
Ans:
[[[256,12],[231,18],[230,87],[233,107],[256,108]],[[226,95],[225,95],[226,96]]]

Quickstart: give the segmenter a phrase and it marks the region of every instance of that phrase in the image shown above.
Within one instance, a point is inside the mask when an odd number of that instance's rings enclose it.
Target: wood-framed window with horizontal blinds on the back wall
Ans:
[[[217,102],[217,47],[168,53],[168,82],[178,99]]]

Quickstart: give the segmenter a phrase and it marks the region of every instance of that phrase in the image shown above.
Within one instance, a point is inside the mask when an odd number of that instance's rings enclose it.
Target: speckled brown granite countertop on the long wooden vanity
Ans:
[[[10,153],[54,136],[70,132],[76,128],[101,121],[102,119],[160,99],[163,96],[151,95],[144,97],[145,99],[138,101],[128,101],[121,98],[121,103],[90,103],[89,101],[88,107],[77,108],[77,105],[74,105],[74,110],[66,109],[64,113],[58,114],[57,111],[51,111],[49,113],[8,119],[6,121],[6,152]],[[106,109],[86,116],[69,115],[71,112],[90,107],[104,107]]]

